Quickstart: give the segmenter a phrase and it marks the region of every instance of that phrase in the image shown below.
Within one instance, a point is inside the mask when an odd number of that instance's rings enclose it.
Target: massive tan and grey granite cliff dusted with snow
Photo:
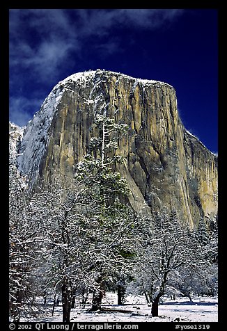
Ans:
[[[96,70],[58,83],[24,131],[19,170],[32,182],[57,173],[71,178],[88,151],[95,113],[130,129],[118,137],[118,170],[136,211],[176,211],[182,223],[217,214],[217,156],[185,130],[175,90],[159,81]]]

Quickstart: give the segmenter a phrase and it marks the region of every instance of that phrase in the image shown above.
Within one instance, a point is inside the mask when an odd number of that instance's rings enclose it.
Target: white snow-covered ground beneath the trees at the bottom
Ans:
[[[72,322],[217,322],[217,298],[198,297],[190,302],[187,298],[165,299],[159,305],[159,317],[150,316],[150,307],[143,296],[127,296],[125,305],[116,305],[116,293],[107,293],[103,300],[103,312],[89,312],[91,305],[83,309],[77,305],[71,312]],[[49,302],[51,303],[51,302]],[[56,307],[52,316],[52,306],[47,306],[49,312],[29,321],[61,322],[61,304]],[[25,321],[25,320],[24,320]],[[27,320],[26,320],[27,321]]]

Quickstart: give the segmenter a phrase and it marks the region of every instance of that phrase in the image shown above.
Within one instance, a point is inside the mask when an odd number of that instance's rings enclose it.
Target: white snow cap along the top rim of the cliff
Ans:
[[[67,81],[69,81],[70,79],[72,81],[84,81],[86,79],[89,78],[94,78],[95,74],[99,74],[99,73],[104,73],[107,76],[109,75],[115,75],[115,76],[119,76],[125,79],[132,79],[134,81],[138,81],[140,83],[142,83],[143,85],[148,85],[148,84],[161,84],[161,85],[166,85],[166,86],[170,86],[171,88],[173,88],[173,86],[169,85],[168,83],[165,83],[164,81],[154,81],[154,80],[150,80],[150,79],[140,79],[140,78],[135,78],[132,76],[128,76],[127,74],[121,74],[120,72],[112,72],[112,71],[108,71],[108,70],[88,70],[85,72],[77,72],[76,74],[71,74],[70,76],[68,76],[67,78],[63,79],[63,81],[60,81],[59,83],[66,83]]]

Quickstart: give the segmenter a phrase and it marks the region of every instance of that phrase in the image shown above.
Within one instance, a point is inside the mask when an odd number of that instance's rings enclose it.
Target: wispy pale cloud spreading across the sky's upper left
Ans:
[[[87,51],[100,59],[120,54],[120,29],[153,30],[181,14],[175,9],[10,10],[10,120],[26,124],[42,103],[39,90],[64,79],[65,68],[74,70]],[[133,33],[129,37],[133,42]],[[92,65],[92,56],[89,60]]]

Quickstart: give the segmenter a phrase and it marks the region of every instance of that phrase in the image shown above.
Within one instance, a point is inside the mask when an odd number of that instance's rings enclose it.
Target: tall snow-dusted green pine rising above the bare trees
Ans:
[[[95,243],[97,246],[102,243],[104,247],[109,247],[109,257],[114,261],[111,268],[113,273],[114,268],[126,260],[124,241],[127,242],[127,232],[133,219],[132,211],[123,203],[123,199],[130,193],[127,181],[114,171],[116,163],[123,162],[123,158],[116,154],[116,137],[125,131],[127,126],[116,124],[114,119],[108,118],[104,112],[104,115],[96,115],[93,129],[96,136],[91,139],[89,153],[77,165],[77,179],[82,180],[89,188],[89,199],[93,203],[92,214],[89,217],[94,217],[95,210],[95,219],[102,234],[101,239],[96,239]],[[111,243],[114,236],[116,239]],[[97,289],[93,292],[91,311],[101,308],[102,283],[110,273],[110,268],[106,266],[104,261],[93,265],[97,273]]]

